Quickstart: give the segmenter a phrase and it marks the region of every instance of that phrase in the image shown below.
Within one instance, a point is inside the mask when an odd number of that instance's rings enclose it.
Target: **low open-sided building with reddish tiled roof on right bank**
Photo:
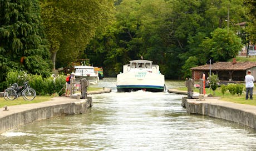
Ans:
[[[244,81],[247,71],[252,71],[252,75],[256,79],[256,62],[216,62],[214,64],[205,64],[203,66],[190,68],[192,78],[199,80],[203,73],[205,77],[209,77],[209,73],[218,74],[219,80],[236,80]]]

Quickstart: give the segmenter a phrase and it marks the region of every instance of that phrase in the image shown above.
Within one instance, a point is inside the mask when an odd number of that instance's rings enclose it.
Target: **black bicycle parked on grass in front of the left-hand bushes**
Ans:
[[[4,90],[3,97],[6,100],[14,100],[22,95],[24,100],[33,100],[36,97],[36,90],[31,88],[27,82],[18,86],[18,83],[12,84],[11,87]]]

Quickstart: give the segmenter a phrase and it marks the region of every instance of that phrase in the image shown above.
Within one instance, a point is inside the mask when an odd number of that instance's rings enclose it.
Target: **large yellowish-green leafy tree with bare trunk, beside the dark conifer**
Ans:
[[[53,71],[56,62],[76,61],[96,30],[111,21],[113,5],[109,0],[41,0]]]

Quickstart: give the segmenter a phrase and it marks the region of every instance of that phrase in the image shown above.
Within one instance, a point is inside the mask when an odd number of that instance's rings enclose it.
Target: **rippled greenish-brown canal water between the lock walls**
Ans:
[[[117,93],[115,78],[84,114],[34,122],[0,135],[0,150],[256,150],[252,128],[187,114],[180,94]],[[167,88],[183,82],[166,81]]]

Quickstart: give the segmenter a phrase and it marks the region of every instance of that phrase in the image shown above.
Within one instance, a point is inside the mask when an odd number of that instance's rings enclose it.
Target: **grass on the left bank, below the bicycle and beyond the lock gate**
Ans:
[[[102,90],[102,88],[95,88],[95,87],[89,87],[88,92],[94,91],[94,90]],[[4,98],[0,98],[0,108],[3,108],[5,105],[12,106],[12,105],[20,105],[20,104],[31,104],[31,103],[39,103],[39,102],[45,102],[48,100],[51,100],[52,97],[55,96],[36,96],[36,98],[32,101],[24,100],[22,97],[19,97],[18,99],[14,100],[5,100]]]

